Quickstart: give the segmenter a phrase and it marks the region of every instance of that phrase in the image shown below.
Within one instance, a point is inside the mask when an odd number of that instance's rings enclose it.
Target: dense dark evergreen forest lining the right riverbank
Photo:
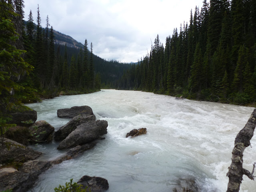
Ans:
[[[150,54],[133,64],[120,89],[214,102],[256,101],[256,1],[203,1]]]

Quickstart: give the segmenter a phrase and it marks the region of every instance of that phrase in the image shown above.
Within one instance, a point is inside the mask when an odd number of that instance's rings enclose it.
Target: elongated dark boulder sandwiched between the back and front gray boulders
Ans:
[[[95,121],[94,115],[78,115],[72,120],[70,120],[66,125],[62,126],[59,130],[55,132],[54,140],[62,141],[64,140],[72,131],[74,131],[77,126],[90,121]]]

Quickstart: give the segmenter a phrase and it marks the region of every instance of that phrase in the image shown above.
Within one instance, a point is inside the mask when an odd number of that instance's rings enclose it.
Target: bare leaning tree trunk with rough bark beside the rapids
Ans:
[[[253,132],[256,126],[256,109],[252,112],[248,122],[242,130],[237,134],[235,139],[235,147],[232,151],[232,163],[228,168],[227,176],[229,178],[227,192],[239,192],[240,184],[243,180],[243,175],[248,176],[251,180],[254,180],[254,168],[253,164],[252,173],[243,168],[243,152],[246,147],[250,146],[250,140],[253,136]]]

